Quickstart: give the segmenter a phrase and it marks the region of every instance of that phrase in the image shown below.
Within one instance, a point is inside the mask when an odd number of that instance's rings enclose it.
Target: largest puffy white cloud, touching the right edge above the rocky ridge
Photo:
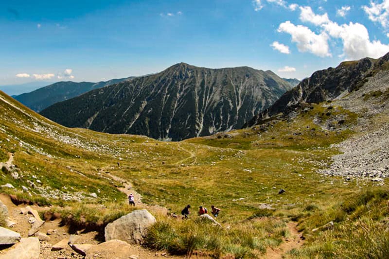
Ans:
[[[382,44],[379,40],[370,41],[368,30],[360,23],[338,25],[336,22],[330,22],[322,27],[330,36],[342,39],[343,55],[347,59],[366,56],[378,58],[389,52],[389,45]]]

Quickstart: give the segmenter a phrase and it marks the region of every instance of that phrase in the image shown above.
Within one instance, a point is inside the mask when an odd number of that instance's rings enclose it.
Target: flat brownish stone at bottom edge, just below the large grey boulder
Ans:
[[[110,240],[98,245],[93,245],[87,251],[86,259],[98,258],[128,258],[134,254],[131,245],[121,240]]]

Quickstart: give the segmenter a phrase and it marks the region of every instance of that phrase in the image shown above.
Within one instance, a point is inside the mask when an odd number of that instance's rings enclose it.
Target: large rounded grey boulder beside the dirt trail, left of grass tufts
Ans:
[[[135,210],[106,225],[106,241],[117,239],[130,244],[141,244],[147,228],[154,223],[156,219],[146,209]]]

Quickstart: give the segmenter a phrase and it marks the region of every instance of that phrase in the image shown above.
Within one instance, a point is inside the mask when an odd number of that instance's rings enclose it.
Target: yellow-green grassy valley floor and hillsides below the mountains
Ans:
[[[53,205],[51,213],[76,229],[101,231],[133,209],[118,189],[131,183],[141,194],[137,208],[158,221],[145,245],[176,255],[384,258],[386,180],[325,170],[350,148],[342,143],[356,147],[367,134],[379,142],[374,132],[389,121],[388,77],[379,71],[336,100],[303,103],[252,128],[181,142],[65,128],[1,93],[0,185],[15,187],[1,191]],[[181,220],[187,204],[192,215]],[[221,228],[195,215],[200,205],[222,209]],[[294,230],[303,236],[296,242]]]

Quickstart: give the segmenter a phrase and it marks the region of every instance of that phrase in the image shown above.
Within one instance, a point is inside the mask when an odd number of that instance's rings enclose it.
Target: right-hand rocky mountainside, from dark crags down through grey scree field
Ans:
[[[309,109],[306,103],[320,103],[331,110],[342,107],[357,115],[357,123],[350,130],[354,136],[332,145],[341,154],[332,157],[332,164],[319,173],[371,178],[383,182],[389,176],[389,53],[379,59],[364,58],[341,63],[335,69],[315,72],[311,78],[286,92],[280,100],[254,117],[248,125],[262,124],[272,119],[293,120]],[[324,112],[324,113],[326,113]],[[319,116],[312,118],[317,124]],[[336,131],[342,118],[326,125]],[[329,120],[331,121],[331,120]]]

